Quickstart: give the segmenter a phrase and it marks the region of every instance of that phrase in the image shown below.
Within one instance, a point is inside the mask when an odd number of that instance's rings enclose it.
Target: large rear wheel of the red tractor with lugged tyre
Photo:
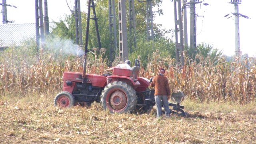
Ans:
[[[100,96],[100,104],[110,112],[132,112],[137,104],[137,96],[132,86],[116,81],[105,86]]]

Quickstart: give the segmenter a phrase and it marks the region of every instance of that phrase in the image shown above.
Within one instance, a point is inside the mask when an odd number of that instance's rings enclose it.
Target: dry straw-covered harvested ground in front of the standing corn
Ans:
[[[255,143],[256,103],[238,105],[185,100],[186,118],[111,114],[53,106],[54,96],[0,97],[0,143]]]

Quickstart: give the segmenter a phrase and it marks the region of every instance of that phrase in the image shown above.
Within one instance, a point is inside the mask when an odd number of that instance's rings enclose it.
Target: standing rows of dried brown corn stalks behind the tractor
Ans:
[[[86,73],[103,74],[108,62],[100,55],[87,58]],[[29,93],[50,93],[62,89],[64,71],[82,72],[83,57],[62,58],[41,50],[36,58],[4,53],[0,60],[0,94],[23,96]],[[199,102],[234,102],[246,104],[255,100],[256,64],[254,58],[226,62],[223,58],[212,60],[197,56],[196,61],[185,57],[185,66],[176,66],[175,59],[160,58],[155,52],[140,76],[150,78],[163,62],[171,90],[182,90],[190,100]],[[133,61],[133,60],[132,60]],[[115,60],[113,65],[117,64]],[[142,62],[141,62],[142,63]]]

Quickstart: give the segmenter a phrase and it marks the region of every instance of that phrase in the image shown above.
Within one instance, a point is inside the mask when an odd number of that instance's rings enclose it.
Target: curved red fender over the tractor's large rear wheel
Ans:
[[[132,86],[134,88],[134,90],[136,88],[138,88],[138,86],[140,86],[140,82],[138,80],[134,80],[134,78],[132,77],[128,77],[128,76],[107,76],[107,85],[111,82],[115,82],[115,81],[122,81],[122,82],[126,82],[127,84],[129,84],[130,86]]]

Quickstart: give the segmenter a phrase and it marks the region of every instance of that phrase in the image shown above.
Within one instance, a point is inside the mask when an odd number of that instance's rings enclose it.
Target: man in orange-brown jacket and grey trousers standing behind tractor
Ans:
[[[170,96],[170,86],[168,79],[164,76],[165,70],[161,68],[160,73],[154,77],[150,86],[155,88],[156,99],[156,112],[157,116],[162,116],[162,103],[164,105],[165,116],[168,118],[170,115],[170,109],[168,104],[168,97]]]

